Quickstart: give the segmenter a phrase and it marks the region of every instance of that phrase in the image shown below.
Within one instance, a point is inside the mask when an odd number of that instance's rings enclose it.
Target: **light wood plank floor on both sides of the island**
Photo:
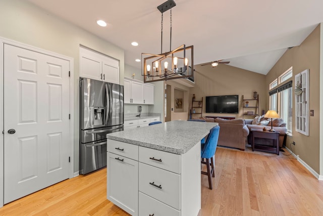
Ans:
[[[212,180],[209,190],[202,175],[203,216],[323,215],[323,182],[282,152],[278,156],[218,147]],[[0,215],[129,214],[106,200],[103,168],[11,202],[0,208]]]

